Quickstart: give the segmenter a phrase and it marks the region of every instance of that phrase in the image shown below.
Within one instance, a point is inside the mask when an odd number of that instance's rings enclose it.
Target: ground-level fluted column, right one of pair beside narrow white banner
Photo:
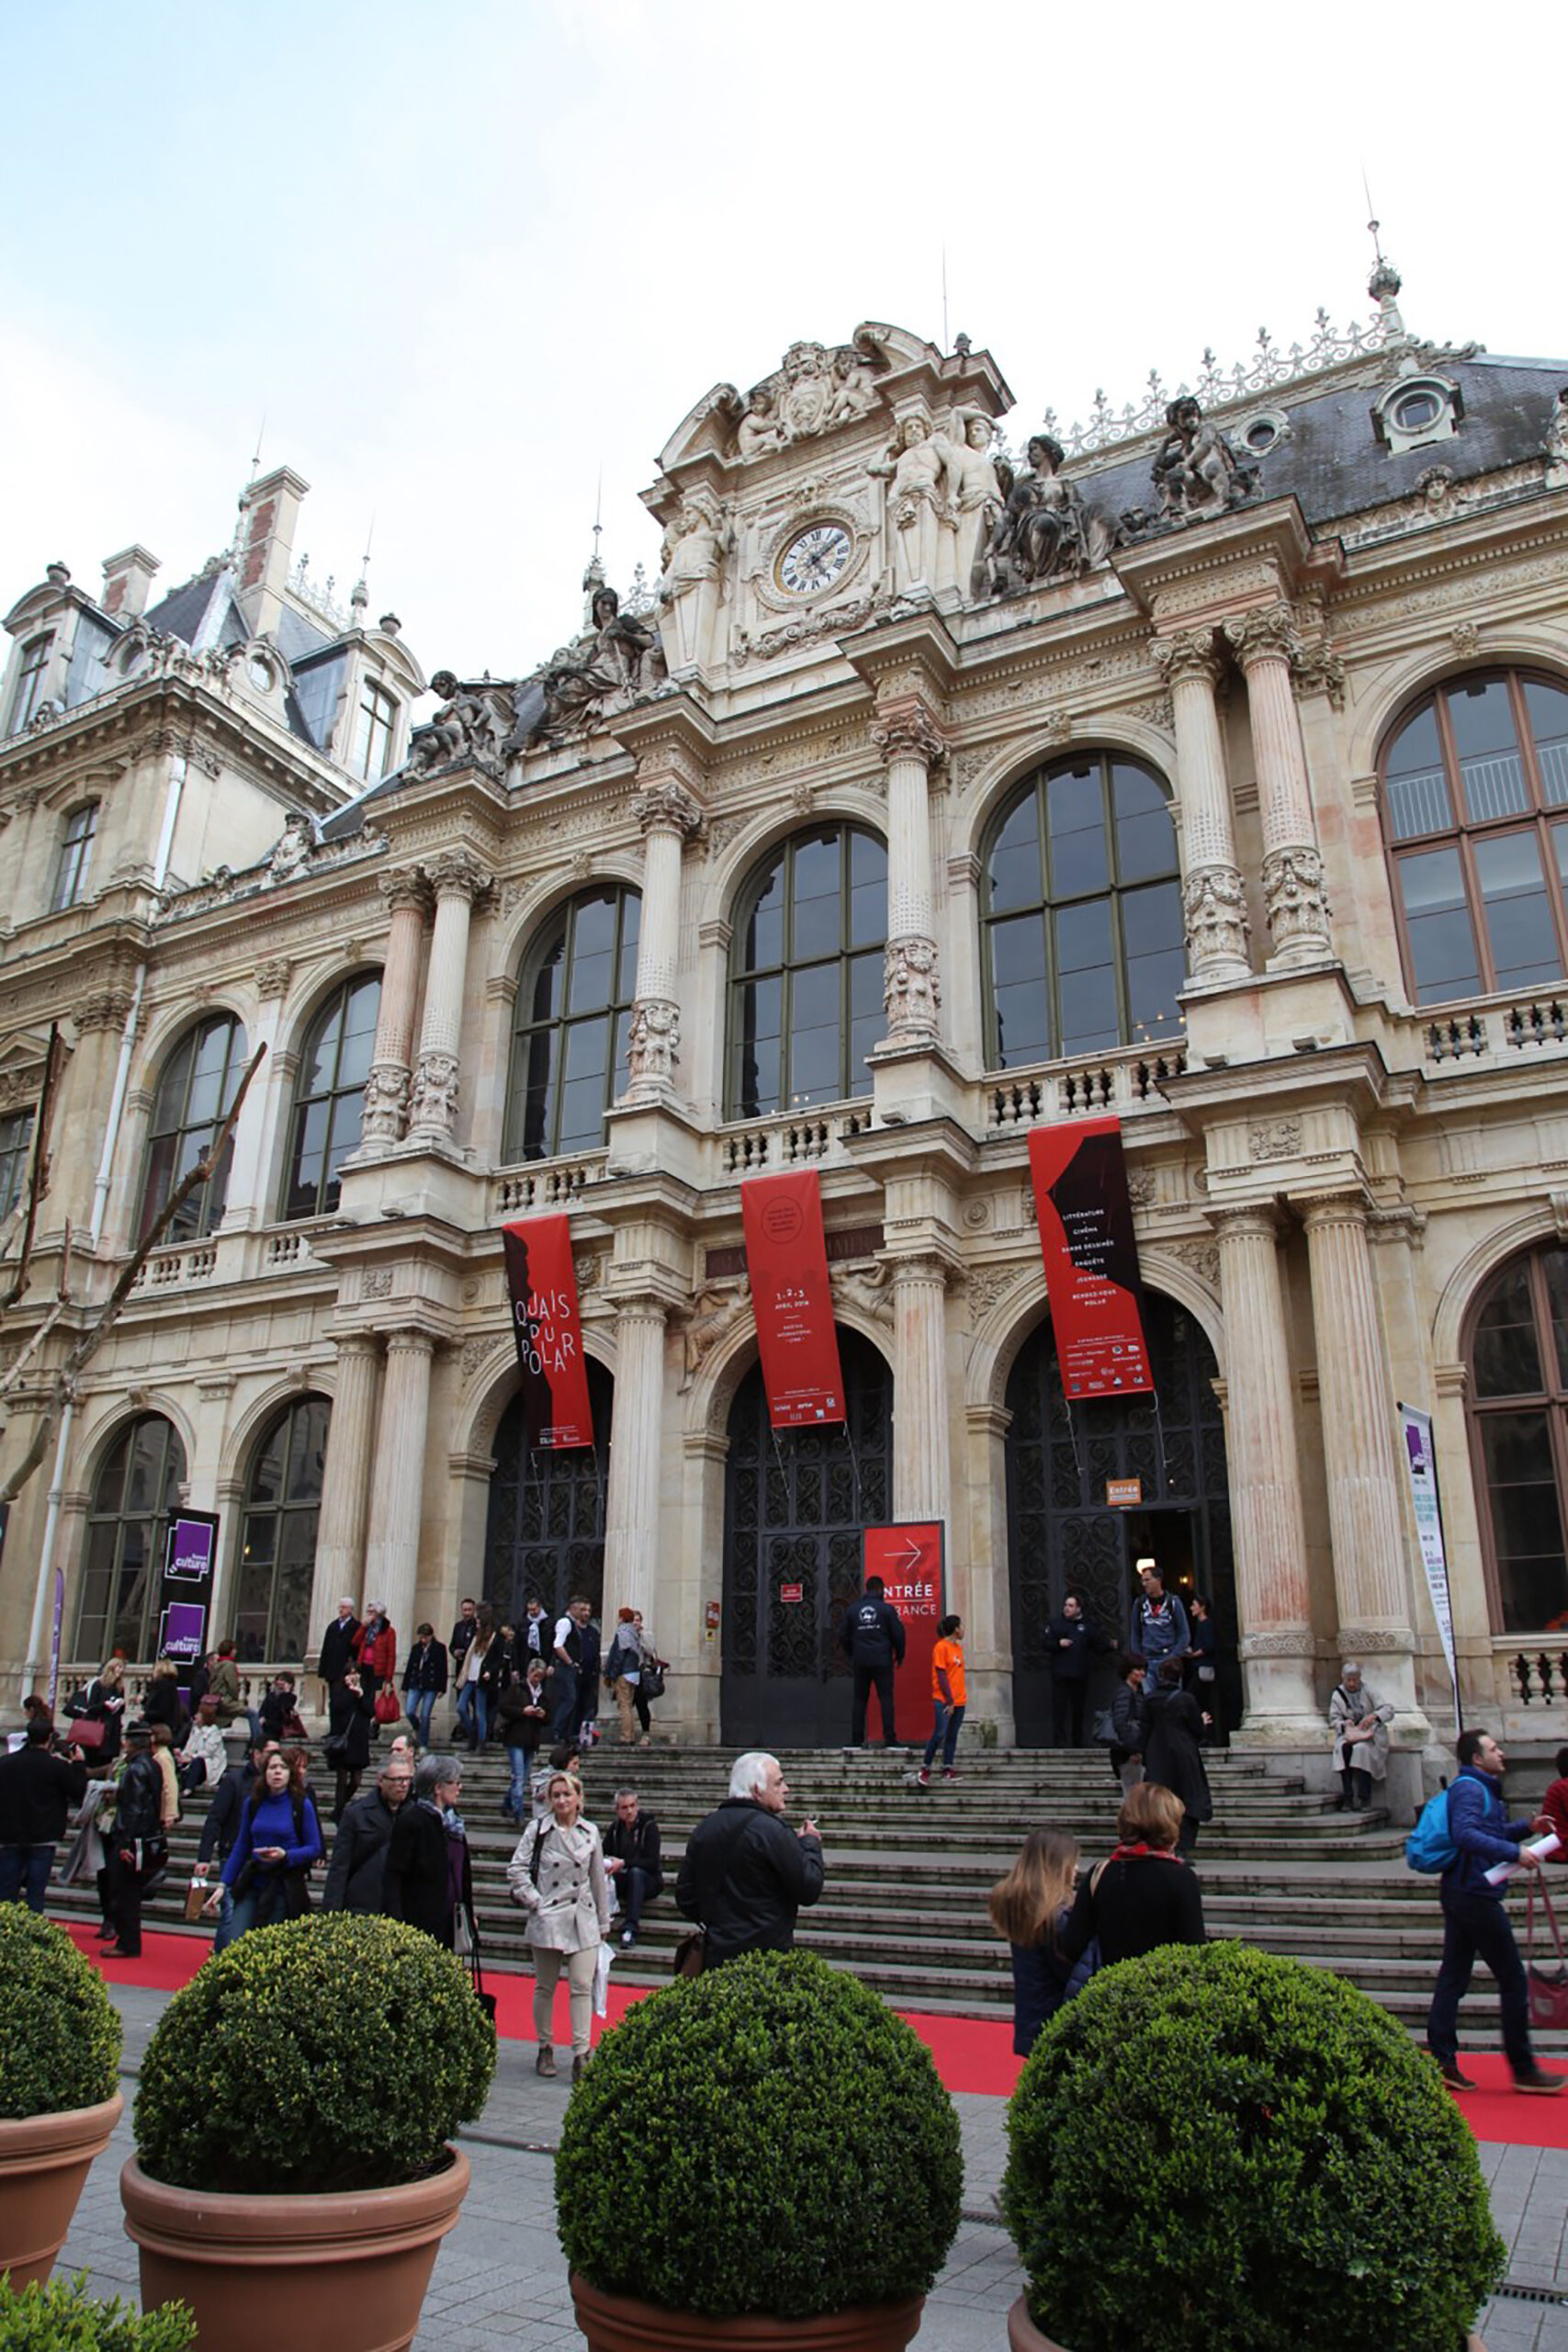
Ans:
[[[1368,1682],[1415,1708],[1394,1388],[1373,1284],[1366,1202],[1354,1192],[1305,1209],[1324,1411],[1328,1534],[1340,1644],[1363,1656]]]

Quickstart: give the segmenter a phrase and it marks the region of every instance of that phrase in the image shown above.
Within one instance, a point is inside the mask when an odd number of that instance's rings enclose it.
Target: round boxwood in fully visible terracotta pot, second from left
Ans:
[[[165,2009],[120,2173],[141,2300],[226,2352],[400,2352],[468,2190],[496,2030],[461,1962],[357,1912],[254,1929]]]

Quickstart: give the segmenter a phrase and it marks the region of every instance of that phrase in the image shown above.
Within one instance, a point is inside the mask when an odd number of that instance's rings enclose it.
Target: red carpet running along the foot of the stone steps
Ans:
[[[148,1933],[141,1940],[141,1959],[103,1959],[101,1945],[89,1926],[71,1922],[71,1936],[96,1959],[110,1985],[146,1985],[150,1992],[176,1992],[188,1985],[207,1959],[205,1936]],[[534,2039],[534,1978],[501,1976],[491,1971],[484,1990],[496,1994],[496,2032],[505,2042]],[[614,2025],[632,2002],[642,2002],[649,1985],[616,1985],[609,1980],[609,2023]],[[567,2023],[567,1987],[557,1992],[559,2025]],[[936,2058],[936,2070],[950,2091],[983,2091],[992,2098],[1009,2098],[1018,2082],[1020,2058],[1013,2058],[1013,2027],[1001,2018],[940,2018],[922,2011],[903,2011],[907,2025]],[[569,2039],[564,2032],[557,2039]],[[1521,2098],[1509,2084],[1502,2053],[1476,2056],[1462,2051],[1465,2072],[1476,2089],[1458,2093],[1460,2114],[1479,2140],[1502,2140],[1514,2147],[1568,2147],[1568,2091],[1559,2098]],[[1561,2058],[1547,2058],[1559,2067]]]

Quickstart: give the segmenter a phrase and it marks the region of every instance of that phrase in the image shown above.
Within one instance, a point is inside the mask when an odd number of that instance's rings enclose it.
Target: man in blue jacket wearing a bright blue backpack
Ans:
[[[1502,1905],[1502,1884],[1490,1886],[1486,1879],[1497,1863],[1540,1870],[1540,1856],[1530,1853],[1523,1839],[1552,1825],[1544,1816],[1507,1818],[1502,1804],[1507,1757],[1490,1731],[1462,1731],[1455,1757],[1460,1771],[1453,1788],[1432,1797],[1406,1846],[1413,1870],[1443,1872],[1443,1964],[1427,2013],[1427,2046],[1453,2091],[1474,2091],[1474,2082],[1460,2072],[1460,2002],[1469,1992],[1469,1976],[1481,1955],[1497,1978],[1502,2049],[1514,2070],[1514,2089],[1554,2093],[1563,2089],[1566,2077],[1549,2074],[1535,2063],[1523,1962]]]

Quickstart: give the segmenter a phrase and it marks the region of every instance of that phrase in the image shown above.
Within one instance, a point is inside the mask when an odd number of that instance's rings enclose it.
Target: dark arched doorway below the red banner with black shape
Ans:
[[[1213,1392],[1213,1348],[1185,1308],[1145,1296],[1145,1336],[1157,1383],[1152,1397],[1105,1397],[1067,1418],[1056,1334],[1044,1322],[1023,1345],[1006,1383],[1009,1585],[1013,1616],[1013,1719],[1020,1748],[1051,1740],[1048,1618],[1079,1592],[1091,1625],[1110,1644],[1091,1679],[1088,1705],[1114,1689],[1114,1651],[1126,1644],[1135,1597],[1133,1564],[1152,1557],[1182,1602],[1206,1592],[1220,1642],[1225,1719],[1241,1712],[1237,1590],[1229,1543],[1225,1423]],[[1164,1444],[1161,1444],[1164,1437]],[[1128,1508],[1107,1503],[1112,1479],[1138,1479]]]

